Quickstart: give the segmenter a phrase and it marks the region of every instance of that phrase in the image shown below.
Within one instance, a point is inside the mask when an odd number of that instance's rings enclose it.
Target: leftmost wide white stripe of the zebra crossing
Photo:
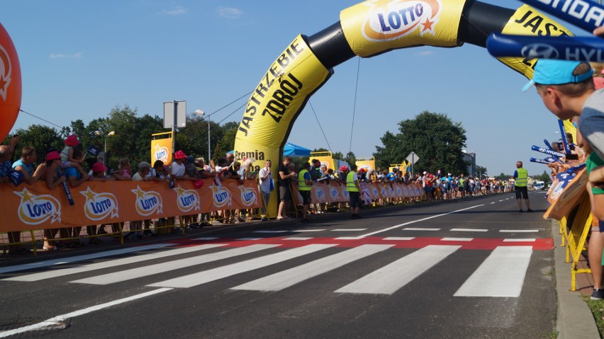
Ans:
[[[77,266],[74,268],[63,268],[60,270],[49,270],[49,271],[45,271],[45,272],[33,273],[30,275],[21,275],[19,277],[10,277],[10,278],[6,278],[4,280],[34,282],[34,281],[38,281],[38,280],[50,279],[53,277],[62,277],[65,275],[72,275],[72,274],[81,273],[81,272],[101,270],[103,268],[113,268],[116,266],[128,265],[131,263],[140,263],[145,260],[166,258],[166,257],[172,256],[172,255],[179,255],[179,254],[191,253],[191,252],[196,252],[196,251],[203,251],[208,248],[215,248],[215,247],[220,247],[220,246],[225,246],[225,244],[224,243],[220,243],[220,244],[212,243],[212,244],[199,245],[199,246],[176,248],[174,250],[168,250],[168,251],[162,251],[162,252],[156,252],[156,253],[148,253],[148,254],[137,255],[137,256],[128,257],[128,258],[109,260],[109,261],[105,261],[103,263],[94,263],[94,264],[90,264],[90,265]]]

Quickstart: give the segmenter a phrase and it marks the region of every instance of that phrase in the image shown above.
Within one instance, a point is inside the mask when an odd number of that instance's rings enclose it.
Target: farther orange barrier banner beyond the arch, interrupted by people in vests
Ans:
[[[367,205],[378,199],[397,199],[406,197],[423,197],[425,192],[418,183],[361,183],[361,198]],[[302,205],[302,196],[296,185],[292,186],[293,201]],[[350,200],[346,185],[332,181],[330,183],[315,183],[311,186],[311,204],[329,202],[347,202]]]

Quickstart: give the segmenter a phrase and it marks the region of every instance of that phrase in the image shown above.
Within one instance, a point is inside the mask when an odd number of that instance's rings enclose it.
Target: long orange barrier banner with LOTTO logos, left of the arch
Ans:
[[[0,185],[0,231],[157,219],[262,205],[256,180],[245,180],[243,185],[236,180],[203,182],[195,189],[192,181],[177,180],[176,187],[170,189],[167,182],[89,181],[70,188],[73,206],[62,187],[48,190],[41,181],[16,188]]]

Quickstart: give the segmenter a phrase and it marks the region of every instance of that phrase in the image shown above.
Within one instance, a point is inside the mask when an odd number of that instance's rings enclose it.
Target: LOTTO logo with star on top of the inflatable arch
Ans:
[[[367,1],[373,8],[363,25],[363,35],[371,41],[389,41],[419,30],[435,34],[442,4],[440,0]]]

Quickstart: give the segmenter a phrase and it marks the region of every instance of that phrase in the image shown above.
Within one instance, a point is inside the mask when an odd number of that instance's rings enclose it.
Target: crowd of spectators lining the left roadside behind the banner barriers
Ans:
[[[232,153],[225,154],[218,159],[216,166],[213,161],[206,163],[203,158],[187,156],[184,151],[174,153],[174,161],[171,166],[164,165],[162,161],[147,163],[145,161],[135,164],[130,163],[128,158],[118,161],[118,168],[111,171],[104,163],[96,158],[85,159],[82,144],[75,135],[69,135],[65,139],[65,148],[62,151],[48,149],[45,154],[45,162],[36,165],[37,154],[31,146],[23,147],[21,157],[14,163],[11,158],[19,138],[13,137],[9,145],[0,146],[0,183],[14,183],[19,185],[33,185],[36,180],[43,180],[47,188],[52,189],[66,184],[75,188],[87,180],[91,181],[166,181],[191,180],[194,187],[200,188],[203,179],[211,178],[218,185],[227,179],[237,180],[242,185],[245,180],[255,180],[259,185],[262,207],[259,209],[224,209],[218,212],[203,214],[186,214],[178,217],[168,217],[158,220],[142,219],[132,220],[126,223],[87,225],[86,238],[88,243],[101,243],[99,236],[113,234],[119,239],[122,232],[125,239],[144,239],[147,236],[157,236],[169,232],[180,232],[181,228],[200,228],[209,226],[213,222],[232,224],[235,222],[250,222],[252,219],[268,219],[267,207],[271,192],[278,187],[279,211],[276,219],[291,219],[298,217],[298,212],[303,222],[308,222],[307,214],[319,214],[328,211],[337,211],[349,208],[349,202],[336,202],[330,204],[311,205],[311,185],[337,183],[347,185],[347,175],[351,168],[328,168],[317,159],[308,161],[302,170],[294,165],[289,156],[279,164],[278,173],[272,174],[271,161],[266,161],[264,167],[257,173],[252,163],[255,159],[235,159]],[[352,166],[351,166],[352,167]],[[376,171],[359,168],[354,172],[354,180],[357,183],[422,183],[427,200],[451,200],[474,195],[502,192],[505,183],[493,180],[475,180],[461,176],[441,176],[440,172],[431,174],[420,173],[418,176],[410,176],[410,173],[402,173],[398,168],[393,171]],[[16,175],[17,173],[17,175]],[[276,182],[274,181],[276,178]],[[17,180],[17,181],[16,181]],[[303,197],[301,208],[291,204],[291,185],[297,185],[298,191]],[[353,193],[356,194],[356,193]],[[372,202],[372,205],[386,205],[399,202],[419,200],[420,198],[405,199],[382,199]],[[275,202],[276,203],[276,202]],[[357,207],[355,207],[357,208]],[[359,217],[358,210],[353,217]],[[180,229],[179,229],[180,228]],[[82,241],[82,229],[79,227],[62,227],[58,229],[45,229],[43,231],[43,250],[54,251],[60,247],[76,248],[85,246]],[[57,234],[59,235],[57,238]],[[13,254],[27,253],[28,250],[19,245],[21,232],[9,232],[9,243],[12,245],[9,252]]]

